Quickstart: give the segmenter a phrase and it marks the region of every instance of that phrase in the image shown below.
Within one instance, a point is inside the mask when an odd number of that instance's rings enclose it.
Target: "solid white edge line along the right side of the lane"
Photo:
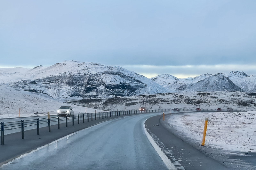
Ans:
[[[144,128],[144,131],[145,131],[145,134],[146,136],[148,137],[148,140],[149,142],[152,144],[152,146],[155,148],[156,152],[158,153],[158,155],[161,157],[161,159],[164,161],[164,164],[167,166],[167,168],[169,170],[178,170],[174,164],[171,162],[170,159],[168,159],[164,152],[162,152],[162,150],[160,149],[160,147],[156,144],[156,142],[154,141],[154,139],[149,135],[146,127],[145,127],[145,122],[147,121],[148,119],[146,119],[144,122],[143,122],[143,128]]]

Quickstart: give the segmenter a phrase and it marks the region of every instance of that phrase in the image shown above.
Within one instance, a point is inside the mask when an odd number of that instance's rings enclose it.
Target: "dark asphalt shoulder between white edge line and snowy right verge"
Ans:
[[[149,118],[145,122],[145,127],[150,132],[151,137],[159,144],[165,154],[172,155],[173,161],[179,163],[184,169],[189,170],[228,170],[216,160],[204,155],[192,145],[176,137],[169,130],[165,129],[160,122],[162,115]],[[166,155],[168,157],[168,155]],[[182,169],[180,167],[180,169]]]

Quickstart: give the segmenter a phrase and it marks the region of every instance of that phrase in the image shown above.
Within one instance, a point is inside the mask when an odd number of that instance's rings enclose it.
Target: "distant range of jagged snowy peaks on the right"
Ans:
[[[159,85],[176,92],[256,92],[256,75],[250,76],[241,71],[231,71],[228,74],[203,74],[194,78],[184,79],[173,79],[172,75],[159,75],[150,79]]]

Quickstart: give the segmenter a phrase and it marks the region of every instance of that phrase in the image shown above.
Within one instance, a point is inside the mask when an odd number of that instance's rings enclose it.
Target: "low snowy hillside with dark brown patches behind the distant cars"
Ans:
[[[256,94],[246,92],[179,92],[147,94],[131,97],[113,97],[108,99],[83,99],[68,102],[78,106],[103,110],[138,110],[200,107],[203,109],[256,109]]]

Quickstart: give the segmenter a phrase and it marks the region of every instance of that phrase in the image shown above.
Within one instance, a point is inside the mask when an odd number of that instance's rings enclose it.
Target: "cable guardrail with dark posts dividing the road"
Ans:
[[[123,116],[123,115],[135,115],[140,113],[157,113],[157,112],[166,112],[170,109],[154,109],[154,110],[145,110],[145,111],[139,111],[139,110],[120,110],[120,111],[112,111],[112,117],[116,116]],[[75,120],[77,121],[77,124],[80,124],[80,119],[83,119],[84,122],[89,122],[90,120],[93,121],[99,120],[99,119],[106,119],[111,118],[111,112],[98,112],[98,113],[81,113],[77,115],[72,115],[71,117],[63,117],[63,116],[57,116],[53,118],[36,118],[36,119],[29,119],[29,120],[21,120],[21,121],[15,121],[15,122],[1,122],[1,144],[4,145],[4,132],[6,130],[14,130],[14,129],[21,129],[21,139],[24,139],[24,131],[25,128],[28,129],[28,127],[34,126],[37,129],[37,135],[40,134],[40,125],[48,123],[48,131],[51,131],[51,123],[57,122],[58,123],[58,129],[60,129],[60,123],[66,122],[66,127],[68,127],[68,120],[70,121],[70,118],[72,118],[72,126],[75,125]],[[87,120],[86,120],[87,119]],[[47,126],[47,125],[46,125]],[[45,126],[44,126],[45,127]],[[29,130],[29,129],[28,129]]]

